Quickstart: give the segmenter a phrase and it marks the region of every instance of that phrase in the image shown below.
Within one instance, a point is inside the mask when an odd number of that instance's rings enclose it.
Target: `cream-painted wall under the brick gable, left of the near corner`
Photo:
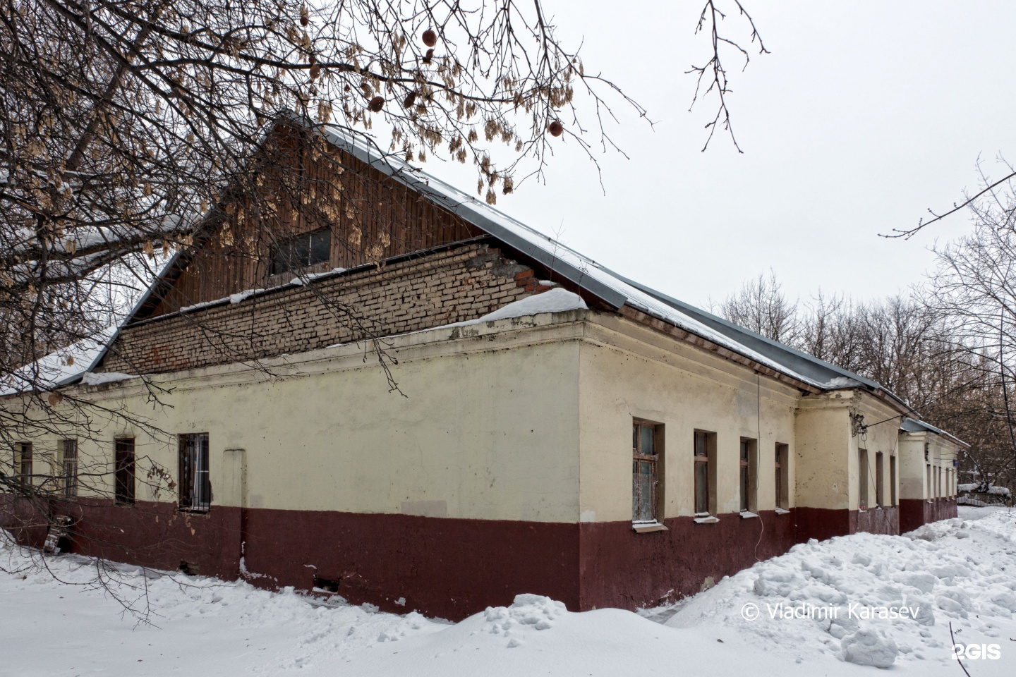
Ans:
[[[300,376],[233,365],[161,378],[172,393],[151,422],[208,433],[214,504],[246,495],[253,507],[576,522],[578,343],[568,325],[539,335],[515,324],[396,340],[392,374],[405,397],[388,392],[362,347],[342,346],[278,362]],[[131,382],[91,397],[151,415]],[[129,435],[139,477],[146,456],[176,477],[175,434],[101,418],[99,442],[81,441],[82,466],[109,473],[113,438]],[[55,448],[50,437],[36,443]],[[96,484],[109,494],[112,474]],[[152,497],[139,486],[138,498]]]

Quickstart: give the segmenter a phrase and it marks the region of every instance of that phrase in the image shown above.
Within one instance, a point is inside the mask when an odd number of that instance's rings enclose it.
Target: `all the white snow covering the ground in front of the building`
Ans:
[[[243,582],[118,566],[121,599],[57,583],[38,553],[0,544],[0,675],[962,675],[956,641],[999,645],[966,661],[974,677],[1016,673],[1016,514],[961,509],[908,536],[855,534],[760,562],[676,607],[572,613],[519,595],[460,623],[326,604]],[[46,563],[86,583],[96,564]],[[769,607],[907,606],[915,619],[772,618]],[[747,604],[759,617],[747,620]],[[801,607],[805,608],[805,607]],[[856,611],[856,609],[855,609]],[[788,613],[788,612],[787,612]],[[847,613],[845,610],[841,613]],[[751,614],[749,614],[751,615]],[[665,624],[651,619],[666,619]]]

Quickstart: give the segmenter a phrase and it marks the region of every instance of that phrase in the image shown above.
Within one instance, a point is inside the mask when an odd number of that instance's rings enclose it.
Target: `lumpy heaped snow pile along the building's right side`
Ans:
[[[950,622],[956,641],[1016,636],[1014,542],[1016,520],[1005,512],[905,536],[812,540],[724,579],[668,625],[734,627],[801,660],[949,665]]]

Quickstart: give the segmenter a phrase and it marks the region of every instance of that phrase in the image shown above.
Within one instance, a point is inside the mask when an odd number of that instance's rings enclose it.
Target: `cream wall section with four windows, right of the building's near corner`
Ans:
[[[579,373],[583,521],[631,520],[633,418],[664,426],[664,518],[694,514],[696,429],[716,433],[717,512],[740,509],[742,436],[759,439],[757,509],[774,507],[776,443],[795,454],[796,390],[627,320],[587,332]],[[792,463],[785,472],[792,486]]]

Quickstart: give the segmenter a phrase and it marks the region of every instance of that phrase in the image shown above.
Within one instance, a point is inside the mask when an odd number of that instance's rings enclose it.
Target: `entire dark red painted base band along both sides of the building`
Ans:
[[[920,501],[917,501],[918,503]],[[631,523],[560,524],[434,519],[405,515],[241,510],[213,505],[188,514],[169,503],[96,501],[74,506],[0,497],[0,526],[25,544],[46,537],[43,513],[75,519],[73,550],[269,589],[311,590],[315,577],[337,582],[350,602],[417,610],[453,620],[536,593],[570,609],[634,609],[702,590],[809,538],[897,533],[907,511],[931,521],[956,514],[952,500],[899,511],[799,507],[756,519],[721,515],[715,524],[665,521],[668,531],[636,534]],[[241,566],[241,557],[245,566]],[[400,600],[400,598],[403,598]],[[401,604],[396,604],[396,600]]]

